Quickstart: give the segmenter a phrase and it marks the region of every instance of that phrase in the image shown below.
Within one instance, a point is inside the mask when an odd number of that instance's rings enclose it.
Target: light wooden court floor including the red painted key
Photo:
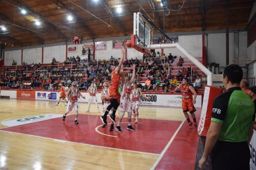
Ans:
[[[125,129],[127,120],[124,119],[124,132],[110,133],[109,125],[104,129],[100,127],[102,113],[96,112],[95,105],[91,106],[90,113],[85,113],[87,103],[79,103],[81,115],[78,116],[79,125],[75,125],[74,111],[63,123],[60,116],[66,106],[64,103],[54,104],[49,101],[0,99],[0,169],[182,169],[182,164],[187,162],[182,158],[180,161],[177,158],[177,164],[172,165],[176,152],[182,152],[177,145],[188,143],[184,140],[186,138],[196,137],[196,129],[190,131],[186,127],[181,108],[140,107],[141,124],[132,124],[136,131],[128,132]],[[102,108],[100,105],[100,110]],[[42,115],[58,116],[26,125],[15,124],[17,120],[19,123],[31,118],[36,120]],[[6,123],[10,125],[6,126]],[[180,136],[177,140],[176,135]],[[197,149],[191,145],[190,142],[189,147]],[[176,147],[173,152],[171,146]],[[192,154],[192,159],[196,158],[195,155]]]

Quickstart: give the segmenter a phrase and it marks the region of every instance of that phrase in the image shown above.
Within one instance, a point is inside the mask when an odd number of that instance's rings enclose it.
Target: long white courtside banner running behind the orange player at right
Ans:
[[[158,94],[145,94],[149,96],[150,99],[141,98],[140,105],[152,105],[152,106],[170,106],[170,107],[182,107],[181,95],[158,95]],[[196,97],[197,108],[202,107],[202,96],[198,95]]]

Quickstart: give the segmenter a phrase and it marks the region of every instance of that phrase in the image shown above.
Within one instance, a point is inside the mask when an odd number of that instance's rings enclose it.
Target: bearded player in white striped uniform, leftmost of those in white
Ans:
[[[66,115],[72,111],[74,108],[75,114],[76,114],[76,119],[75,119],[75,124],[78,124],[77,117],[78,117],[78,96],[82,97],[85,99],[85,97],[80,93],[78,87],[76,86],[77,81],[72,81],[71,82],[71,87],[68,89],[67,92],[67,98],[68,98],[68,106],[66,109],[66,113],[63,115],[62,120],[65,121]]]

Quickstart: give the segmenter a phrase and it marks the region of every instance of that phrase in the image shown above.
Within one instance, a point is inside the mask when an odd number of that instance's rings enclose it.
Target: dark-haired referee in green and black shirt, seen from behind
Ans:
[[[238,65],[227,65],[222,73],[227,92],[214,99],[204,154],[199,161],[202,170],[210,153],[212,170],[250,170],[248,143],[255,114],[252,99],[241,91],[242,77],[243,71]]]

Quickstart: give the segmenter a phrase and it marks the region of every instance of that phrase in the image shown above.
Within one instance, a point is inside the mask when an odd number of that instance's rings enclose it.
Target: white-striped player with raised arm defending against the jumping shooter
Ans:
[[[117,126],[116,126],[116,130],[118,132],[123,132],[120,128],[120,123],[124,117],[124,113],[127,112],[128,114],[128,130],[135,130],[132,125],[132,102],[130,99],[130,94],[131,94],[131,85],[134,82],[134,77],[136,74],[136,70],[135,70],[136,65],[134,64],[132,66],[133,72],[132,72],[132,78],[129,81],[129,77],[124,77],[124,74],[122,75],[122,92],[121,92],[121,98],[120,98],[120,105],[119,105],[119,119],[117,122]]]

